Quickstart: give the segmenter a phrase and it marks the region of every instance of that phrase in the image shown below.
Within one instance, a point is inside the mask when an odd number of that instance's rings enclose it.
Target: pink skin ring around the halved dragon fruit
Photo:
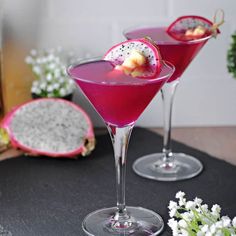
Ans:
[[[24,109],[25,107],[27,107],[28,105],[31,105],[33,103],[47,103],[47,102],[53,102],[54,103],[63,103],[64,105],[68,105],[70,108],[73,108],[73,110],[75,112],[79,112],[83,119],[84,122],[86,123],[86,132],[83,136],[83,142],[80,146],[76,147],[74,150],[70,150],[70,151],[66,151],[66,152],[48,152],[48,151],[44,151],[42,149],[37,149],[37,148],[31,148],[27,145],[24,144],[24,142],[22,142],[21,140],[17,139],[14,135],[14,131],[12,130],[11,124],[14,120],[14,117],[16,116],[17,112],[21,111],[22,109]],[[88,115],[86,114],[86,112],[79,107],[78,105],[66,101],[64,99],[58,99],[58,98],[41,98],[41,99],[35,99],[29,102],[26,102],[20,106],[15,107],[12,111],[10,111],[2,120],[1,122],[1,127],[6,129],[9,137],[10,137],[10,141],[11,141],[11,146],[14,148],[19,148],[22,149],[23,151],[31,154],[31,155],[45,155],[45,156],[50,156],[50,157],[76,157],[77,155],[87,155],[89,154],[95,146],[95,137],[94,137],[94,131],[93,131],[93,125],[92,122],[90,120],[90,118],[88,117]],[[72,128],[76,128],[76,127],[72,127]]]

